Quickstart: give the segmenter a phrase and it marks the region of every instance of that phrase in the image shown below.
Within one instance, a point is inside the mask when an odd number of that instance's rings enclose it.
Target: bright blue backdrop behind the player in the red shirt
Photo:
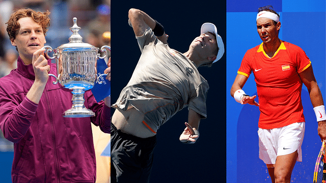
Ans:
[[[300,46],[310,58],[325,99],[325,1],[309,4],[304,1],[254,1],[244,4],[227,0],[227,182],[270,182],[267,168],[258,157],[259,108],[240,105],[230,96],[244,53],[261,43],[255,20],[257,9],[266,5],[272,5],[280,13],[280,39]],[[254,76],[249,77],[243,90],[248,95],[257,95]],[[292,180],[311,182],[321,142],[305,86],[302,100],[306,118],[303,162],[296,163]]]

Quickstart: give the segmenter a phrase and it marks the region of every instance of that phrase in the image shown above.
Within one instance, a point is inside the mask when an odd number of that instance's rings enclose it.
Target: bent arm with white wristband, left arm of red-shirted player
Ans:
[[[233,85],[231,87],[231,96],[240,104],[250,104],[259,106],[259,104],[255,101],[257,96],[248,96],[243,92],[242,87],[247,82],[248,77],[238,74],[235,77]]]

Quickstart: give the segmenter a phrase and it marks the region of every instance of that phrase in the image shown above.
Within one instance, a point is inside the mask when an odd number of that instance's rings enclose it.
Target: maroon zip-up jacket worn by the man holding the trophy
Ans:
[[[57,75],[55,64],[49,73]],[[14,142],[13,182],[95,182],[96,161],[91,122],[110,133],[110,108],[85,93],[95,117],[65,118],[70,89],[49,77],[39,104],[25,96],[34,79],[32,64],[18,58],[18,68],[0,79],[0,128]]]

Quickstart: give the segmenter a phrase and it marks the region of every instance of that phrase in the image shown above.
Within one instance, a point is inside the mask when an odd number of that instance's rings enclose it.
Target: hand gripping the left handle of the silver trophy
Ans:
[[[46,83],[50,72],[50,66],[47,64],[47,59],[44,57],[45,49],[39,49],[33,53],[32,65],[35,73],[35,81]]]

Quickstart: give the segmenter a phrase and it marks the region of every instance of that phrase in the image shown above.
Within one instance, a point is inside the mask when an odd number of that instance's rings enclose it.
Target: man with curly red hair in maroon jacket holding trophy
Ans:
[[[92,92],[85,92],[85,106],[96,116],[62,116],[72,105],[72,94],[48,77],[57,73],[42,49],[48,15],[20,9],[7,22],[11,44],[19,53],[17,69],[0,79],[0,128],[14,142],[12,181],[95,182],[91,123],[110,133],[110,97],[97,103]],[[110,70],[104,71],[109,80]]]

